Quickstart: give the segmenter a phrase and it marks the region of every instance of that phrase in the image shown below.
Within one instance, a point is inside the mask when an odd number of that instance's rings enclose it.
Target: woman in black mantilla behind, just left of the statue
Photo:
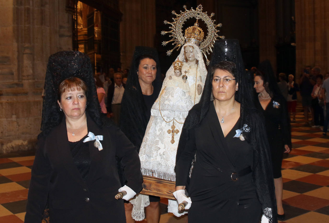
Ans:
[[[157,50],[136,46],[130,68],[121,101],[120,127],[139,152],[151,117],[151,107],[158,98],[162,86]],[[124,176],[121,181],[122,184],[125,183]],[[127,223],[135,222],[131,216],[132,208],[131,204],[125,202]],[[146,218],[150,223],[159,222],[159,197],[150,196],[150,205],[146,207]]]

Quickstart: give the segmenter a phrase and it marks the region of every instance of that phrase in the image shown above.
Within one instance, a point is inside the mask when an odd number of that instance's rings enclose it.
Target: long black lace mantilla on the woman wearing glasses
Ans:
[[[186,143],[189,140],[189,131],[201,124],[202,120],[206,116],[210,104],[212,95],[212,77],[210,70],[212,66],[220,61],[232,61],[236,64],[237,73],[234,76],[239,83],[239,90],[235,94],[236,101],[241,103],[241,126],[239,129],[244,129],[248,132],[246,141],[251,144],[253,148],[253,183],[256,186],[257,197],[262,204],[262,209],[270,210],[276,209],[276,201],[274,194],[274,182],[272,169],[269,165],[269,145],[267,137],[264,135],[266,132],[264,126],[264,117],[255,108],[252,100],[252,85],[250,84],[250,73],[244,69],[242,55],[240,51],[240,45],[238,40],[218,40],[215,42],[215,47],[211,57],[210,65],[208,68],[208,75],[205,81],[204,90],[202,92],[199,103],[195,104],[185,120],[182,128],[179,144],[177,148],[176,161],[179,160],[181,153],[184,151]],[[243,126],[247,124],[249,128]],[[193,163],[192,163],[193,164]],[[188,182],[187,182],[188,184]],[[270,213],[269,211],[266,213]],[[271,213],[271,223],[277,223],[276,212]]]

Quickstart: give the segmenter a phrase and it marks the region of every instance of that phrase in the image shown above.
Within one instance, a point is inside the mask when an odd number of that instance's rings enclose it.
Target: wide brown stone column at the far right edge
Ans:
[[[329,2],[295,0],[296,74],[305,66],[319,66],[329,71]]]

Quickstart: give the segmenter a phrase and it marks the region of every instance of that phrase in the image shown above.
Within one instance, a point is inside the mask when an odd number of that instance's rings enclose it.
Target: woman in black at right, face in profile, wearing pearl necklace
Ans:
[[[289,153],[291,148],[290,118],[287,101],[280,93],[268,60],[259,65],[259,71],[256,72],[254,81],[256,90],[255,105],[265,117],[267,139],[271,149],[278,218],[283,220],[285,215],[282,207],[283,181],[281,164],[283,153]]]

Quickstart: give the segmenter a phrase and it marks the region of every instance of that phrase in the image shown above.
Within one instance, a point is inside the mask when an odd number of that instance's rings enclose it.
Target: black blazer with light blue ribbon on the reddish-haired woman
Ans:
[[[142,189],[136,147],[114,125],[98,127],[87,116],[88,131],[103,135],[103,150],[89,144],[90,169],[86,182],[70,153],[65,117],[46,137],[39,139],[32,168],[25,222],[41,222],[48,199],[49,216],[57,222],[126,222],[123,200],[114,196],[121,187],[115,156],[122,159],[127,186]]]

